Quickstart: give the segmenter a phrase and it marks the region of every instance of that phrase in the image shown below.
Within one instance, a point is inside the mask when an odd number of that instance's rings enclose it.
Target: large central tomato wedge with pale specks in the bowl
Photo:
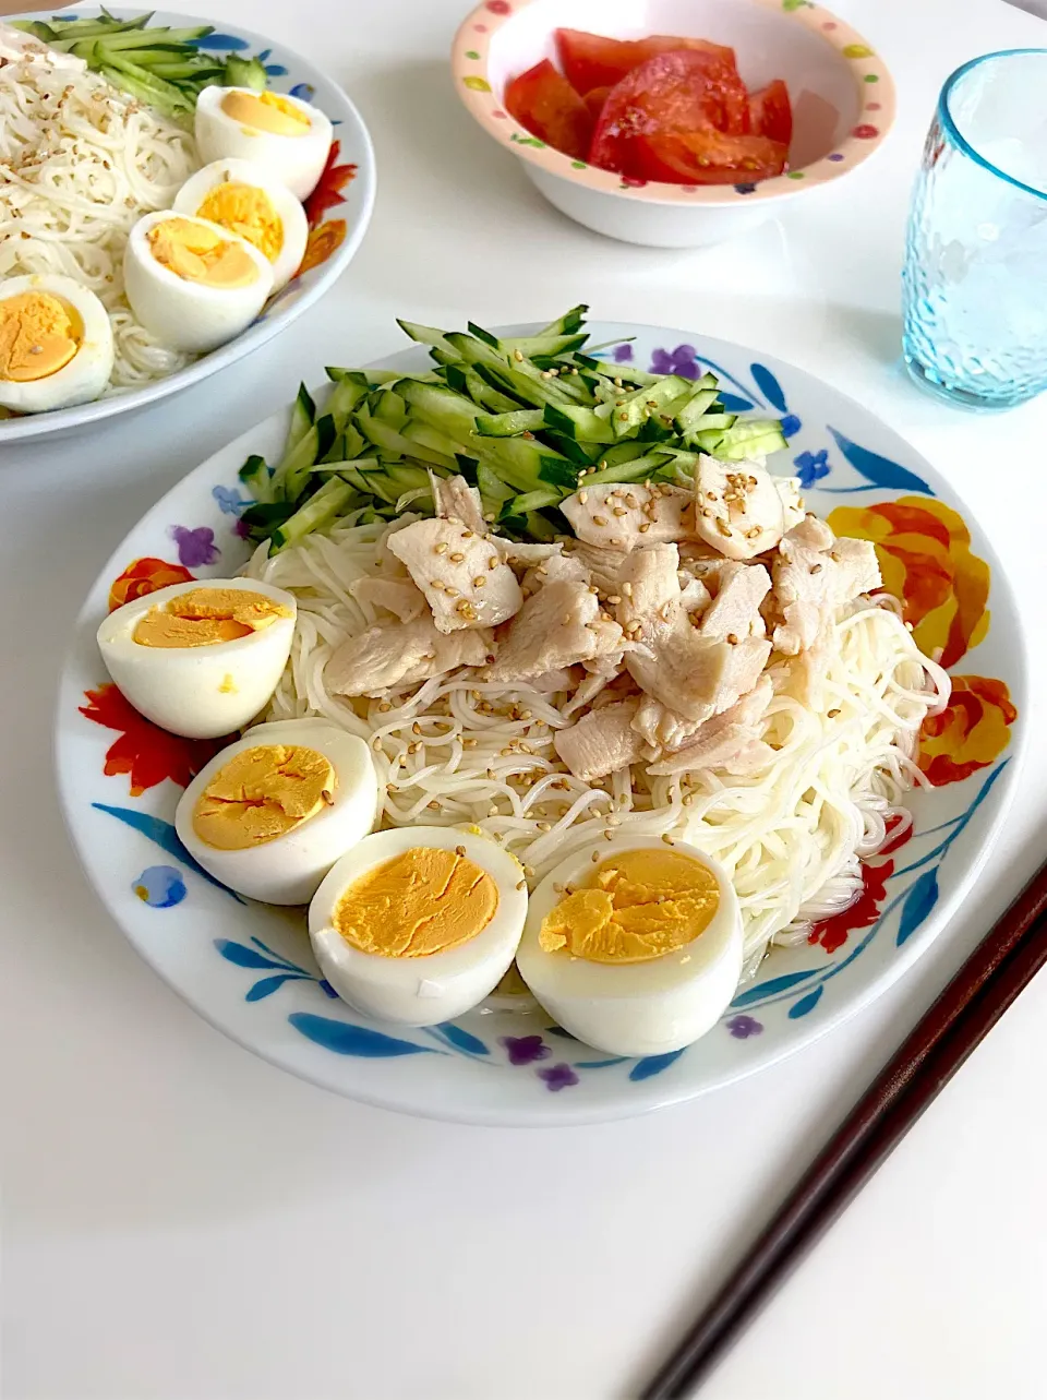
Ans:
[[[633,69],[603,104],[589,162],[624,175],[634,169],[637,136],[715,127],[740,134],[749,125],[749,97],[722,59],[704,50],[661,53]]]

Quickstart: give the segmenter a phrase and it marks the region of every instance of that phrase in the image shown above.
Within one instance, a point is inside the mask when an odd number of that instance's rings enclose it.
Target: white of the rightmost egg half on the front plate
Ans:
[[[564,886],[586,885],[596,865],[614,854],[663,848],[658,837],[620,836],[593,843],[550,871],[530,896],[517,951],[519,973],[564,1030],[607,1054],[682,1050],[717,1023],[742,974],[742,916],[726,871],[704,851],[679,840],[673,850],[701,861],[719,886],[712,920],[690,944],[649,962],[619,966],[542,948],[542,921],[564,897]]]

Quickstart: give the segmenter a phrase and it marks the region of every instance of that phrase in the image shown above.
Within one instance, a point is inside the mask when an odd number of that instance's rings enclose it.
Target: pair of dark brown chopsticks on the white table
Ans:
[[[640,1400],[693,1394],[1047,962],[1047,865],[844,1119]]]

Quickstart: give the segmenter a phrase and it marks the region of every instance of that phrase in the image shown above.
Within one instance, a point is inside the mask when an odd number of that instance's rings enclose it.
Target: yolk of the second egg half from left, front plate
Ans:
[[[316,749],[263,743],[216,773],[193,809],[193,830],[220,851],[286,836],[335,801],[335,769]]]

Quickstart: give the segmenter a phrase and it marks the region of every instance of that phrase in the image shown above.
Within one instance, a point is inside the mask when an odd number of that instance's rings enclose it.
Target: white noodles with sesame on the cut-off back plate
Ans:
[[[59,273],[97,293],[113,328],[109,389],[189,364],[134,319],[123,249],[146,213],[169,209],[199,169],[188,132],[95,73],[0,67],[0,277]]]

